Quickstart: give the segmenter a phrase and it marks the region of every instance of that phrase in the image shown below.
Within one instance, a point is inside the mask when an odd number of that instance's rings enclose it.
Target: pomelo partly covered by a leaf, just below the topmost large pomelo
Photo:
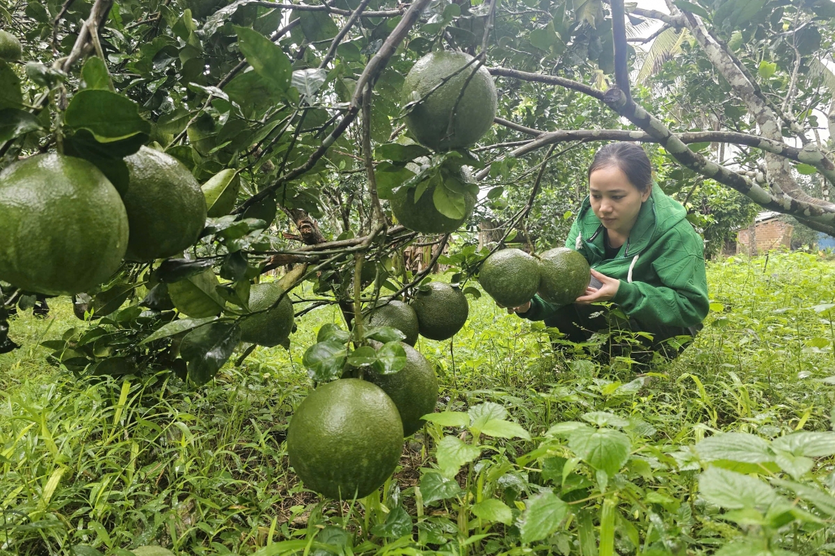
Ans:
[[[472,176],[466,171],[461,172],[459,179],[461,184],[473,183]],[[418,187],[420,186],[418,185]],[[397,191],[397,194],[388,200],[397,221],[409,230],[422,234],[446,234],[458,230],[473,214],[476,202],[475,196],[469,191],[464,193],[463,215],[459,218],[450,218],[448,215],[443,215],[435,206],[436,187],[438,185],[430,185],[423,191],[423,195],[417,199],[417,202],[414,200],[417,188],[412,187]]]

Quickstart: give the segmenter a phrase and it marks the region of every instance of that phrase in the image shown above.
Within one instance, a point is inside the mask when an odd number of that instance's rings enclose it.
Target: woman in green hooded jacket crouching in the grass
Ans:
[[[701,330],[708,311],[704,243],[686,215],[653,182],[644,149],[605,145],[589,168],[589,196],[565,240],[589,261],[590,286],[569,306],[536,296],[509,311],[545,321],[575,343],[610,327],[646,332],[651,340],[639,337],[647,350],[633,348],[633,359],[648,359],[654,351],[677,356]],[[603,306],[590,305],[599,301],[620,307],[628,321],[613,320]],[[676,336],[678,341],[670,341]]]

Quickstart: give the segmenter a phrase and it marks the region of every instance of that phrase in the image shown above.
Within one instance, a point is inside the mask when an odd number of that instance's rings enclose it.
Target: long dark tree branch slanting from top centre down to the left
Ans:
[[[346,114],[342,117],[339,124],[337,124],[336,129],[331,131],[331,134],[322,140],[319,148],[316,149],[310,157],[308,157],[306,162],[301,164],[301,166],[291,169],[290,172],[282,175],[281,178],[276,179],[273,184],[267,186],[256,195],[250,197],[248,200],[245,200],[244,203],[232,211],[232,214],[240,214],[246,210],[247,207],[265,199],[268,195],[271,195],[279,187],[281,187],[282,184],[286,184],[286,182],[296,179],[301,174],[305,174],[313,168],[316,161],[325,155],[327,149],[331,148],[331,145],[334,144],[334,142],[345,132],[348,125],[350,125],[354,119],[357,119],[357,114],[359,113],[360,105],[362,104],[362,93],[365,90],[366,85],[369,84],[373,86],[373,83],[377,80],[380,73],[382,73],[382,70],[386,68],[388,60],[392,58],[395,50],[397,50],[397,45],[402,42],[403,38],[406,38],[409,30],[417,22],[417,18],[420,16],[421,12],[423,12],[423,8],[425,8],[428,3],[429,0],[416,0],[411,4],[400,22],[397,23],[397,27],[395,27],[392,33],[388,35],[386,41],[382,43],[382,47],[380,47],[377,53],[374,54],[374,57],[368,62],[368,65],[362,71],[360,78],[357,79],[354,94]]]

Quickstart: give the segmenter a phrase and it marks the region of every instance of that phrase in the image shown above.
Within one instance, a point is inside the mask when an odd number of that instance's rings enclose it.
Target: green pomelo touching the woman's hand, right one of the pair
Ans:
[[[583,255],[557,247],[539,255],[539,297],[550,303],[574,303],[589,286],[591,270]]]

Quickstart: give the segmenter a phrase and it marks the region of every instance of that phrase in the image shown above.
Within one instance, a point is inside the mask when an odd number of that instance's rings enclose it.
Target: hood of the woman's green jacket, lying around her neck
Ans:
[[[639,255],[640,251],[645,250],[654,238],[664,235],[681,220],[685,220],[686,216],[687,210],[684,206],[667,196],[658,184],[653,182],[650,198],[645,200],[640,207],[638,220],[635,220],[635,226],[630,231],[623,256]],[[595,215],[595,211],[591,210],[588,195],[583,200],[577,220],[583,240],[594,242],[602,236],[603,223]]]

